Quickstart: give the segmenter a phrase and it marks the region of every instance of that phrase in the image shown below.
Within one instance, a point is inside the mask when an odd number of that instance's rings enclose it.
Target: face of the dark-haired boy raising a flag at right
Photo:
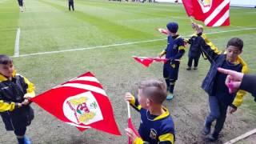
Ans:
[[[238,58],[238,55],[241,54],[242,51],[239,50],[237,46],[228,46],[226,48],[226,59],[229,62],[235,62]]]

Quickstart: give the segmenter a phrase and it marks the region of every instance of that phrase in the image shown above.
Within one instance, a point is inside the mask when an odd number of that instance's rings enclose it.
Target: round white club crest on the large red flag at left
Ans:
[[[66,118],[78,125],[90,125],[103,119],[98,102],[90,91],[66,98],[63,113]]]

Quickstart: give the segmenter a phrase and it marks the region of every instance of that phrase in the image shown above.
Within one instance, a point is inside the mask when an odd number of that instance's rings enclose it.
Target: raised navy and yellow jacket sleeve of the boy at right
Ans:
[[[214,62],[214,59],[217,58],[221,52],[208,38],[206,38],[205,34],[198,36],[198,38],[203,54],[206,55],[206,58],[209,59],[211,63]]]

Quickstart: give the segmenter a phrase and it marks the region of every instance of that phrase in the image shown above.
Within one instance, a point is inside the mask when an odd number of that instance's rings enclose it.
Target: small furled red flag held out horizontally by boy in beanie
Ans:
[[[150,57],[136,57],[133,56],[134,60],[141,63],[143,66],[149,67],[152,62],[167,62],[166,58],[150,58]]]

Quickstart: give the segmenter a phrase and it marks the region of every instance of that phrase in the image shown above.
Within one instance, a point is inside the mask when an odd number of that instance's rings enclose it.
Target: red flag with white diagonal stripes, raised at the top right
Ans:
[[[182,0],[186,13],[206,26],[230,26],[230,0]]]

